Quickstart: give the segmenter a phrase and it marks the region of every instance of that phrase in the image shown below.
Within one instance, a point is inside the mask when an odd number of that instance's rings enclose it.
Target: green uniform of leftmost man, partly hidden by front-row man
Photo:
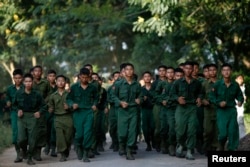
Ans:
[[[22,89],[23,86],[20,87],[20,89]],[[14,103],[14,99],[16,96],[16,92],[17,92],[17,88],[15,85],[11,85],[7,88],[6,91],[6,102],[10,102],[11,103],[11,128],[12,128],[12,144],[17,144],[17,110],[16,108],[14,108],[13,103]]]

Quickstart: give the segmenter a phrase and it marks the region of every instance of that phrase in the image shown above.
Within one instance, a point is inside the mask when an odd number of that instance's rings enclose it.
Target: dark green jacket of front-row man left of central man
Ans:
[[[66,97],[67,104],[72,108],[73,104],[78,104],[79,109],[91,109],[92,106],[97,106],[99,102],[99,92],[97,88],[89,83],[84,90],[81,83],[77,82],[70,88],[70,93]]]

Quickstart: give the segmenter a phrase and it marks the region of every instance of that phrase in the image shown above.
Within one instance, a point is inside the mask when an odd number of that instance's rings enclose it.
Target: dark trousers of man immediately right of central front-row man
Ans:
[[[154,138],[154,119],[152,110],[152,108],[141,108],[142,131],[147,144],[151,144]]]

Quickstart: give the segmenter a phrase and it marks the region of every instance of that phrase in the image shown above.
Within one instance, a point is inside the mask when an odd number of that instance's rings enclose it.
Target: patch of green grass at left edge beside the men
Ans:
[[[0,154],[1,154],[5,148],[8,148],[12,145],[11,143],[12,132],[11,132],[10,125],[3,125],[1,121],[0,132],[1,132],[1,135],[0,135]]]

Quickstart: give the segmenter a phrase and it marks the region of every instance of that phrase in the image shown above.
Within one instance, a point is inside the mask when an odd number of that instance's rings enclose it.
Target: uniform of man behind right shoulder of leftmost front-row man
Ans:
[[[39,82],[33,82],[33,88],[41,93],[43,99],[45,102],[48,102],[48,96],[50,92],[50,85],[49,82],[46,79],[41,79]],[[39,119],[39,133],[38,133],[38,141],[36,143],[37,147],[37,154],[40,153],[41,147],[44,147],[46,145],[47,140],[47,124],[46,124],[46,117],[48,117],[48,111],[46,111],[44,114],[41,115],[41,118]]]

